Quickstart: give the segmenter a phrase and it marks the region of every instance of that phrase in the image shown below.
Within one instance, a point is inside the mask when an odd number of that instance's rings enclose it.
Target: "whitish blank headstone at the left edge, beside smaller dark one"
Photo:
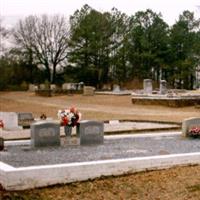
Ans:
[[[22,127],[18,125],[18,114],[15,112],[0,112],[0,119],[4,122],[5,130],[22,129]]]

